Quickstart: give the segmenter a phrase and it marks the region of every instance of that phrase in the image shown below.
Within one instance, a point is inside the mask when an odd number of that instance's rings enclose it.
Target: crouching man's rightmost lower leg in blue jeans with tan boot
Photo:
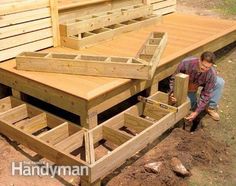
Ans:
[[[219,121],[220,120],[220,115],[217,113],[217,106],[220,101],[222,91],[224,88],[225,81],[223,78],[217,76],[216,77],[216,84],[213,89],[213,94],[212,97],[209,101],[208,109],[207,112],[208,114],[212,117],[212,119]]]

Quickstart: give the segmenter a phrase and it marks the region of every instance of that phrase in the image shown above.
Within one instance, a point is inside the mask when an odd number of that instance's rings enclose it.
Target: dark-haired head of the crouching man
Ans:
[[[199,61],[199,71],[207,72],[215,64],[215,54],[203,52]]]

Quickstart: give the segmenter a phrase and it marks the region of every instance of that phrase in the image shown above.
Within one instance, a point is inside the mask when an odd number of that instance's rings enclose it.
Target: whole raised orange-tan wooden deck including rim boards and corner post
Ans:
[[[132,57],[153,31],[168,33],[167,48],[153,82],[18,71],[15,60],[9,60],[0,64],[0,83],[80,115],[82,125],[93,128],[99,113],[144,89],[155,89],[156,83],[171,75],[184,57],[204,50],[215,51],[236,40],[234,21],[174,13],[164,16],[160,24],[80,51],[60,47],[47,51]]]

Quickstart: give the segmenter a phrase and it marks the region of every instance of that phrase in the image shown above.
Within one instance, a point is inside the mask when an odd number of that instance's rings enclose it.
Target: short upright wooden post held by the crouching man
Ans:
[[[188,96],[189,75],[179,73],[175,76],[174,97],[177,99],[176,106],[186,102]]]

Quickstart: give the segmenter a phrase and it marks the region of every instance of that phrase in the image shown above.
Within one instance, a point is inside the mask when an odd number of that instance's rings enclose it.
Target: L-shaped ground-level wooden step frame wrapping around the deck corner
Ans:
[[[180,78],[188,82],[187,76]],[[168,95],[157,92],[148,98],[151,103],[140,102],[90,131],[7,97],[0,100],[0,132],[56,164],[87,166],[89,175],[82,179],[94,183],[186,116],[190,102],[184,95],[176,111],[169,111],[153,104],[168,104]]]

